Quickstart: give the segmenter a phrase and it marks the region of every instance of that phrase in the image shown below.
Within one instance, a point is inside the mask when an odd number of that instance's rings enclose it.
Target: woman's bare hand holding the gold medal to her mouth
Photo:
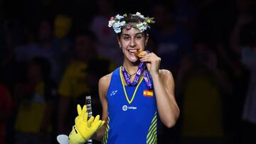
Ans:
[[[139,57],[139,60],[146,63],[146,67],[151,76],[159,76],[161,58],[154,54],[154,52]]]

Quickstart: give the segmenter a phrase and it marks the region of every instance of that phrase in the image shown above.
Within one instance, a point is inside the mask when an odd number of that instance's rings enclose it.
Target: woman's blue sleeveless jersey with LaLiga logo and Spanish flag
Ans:
[[[147,89],[143,78],[137,86],[123,86],[121,77],[119,67],[112,73],[107,91],[109,117],[102,143],[156,143],[159,116],[153,90]]]

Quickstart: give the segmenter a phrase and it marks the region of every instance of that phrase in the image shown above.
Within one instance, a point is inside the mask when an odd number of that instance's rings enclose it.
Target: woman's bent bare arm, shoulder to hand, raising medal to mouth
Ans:
[[[153,52],[142,56],[140,60],[146,62],[146,67],[151,74],[161,122],[171,128],[175,125],[180,113],[174,96],[174,77],[169,70],[159,70],[161,58]]]

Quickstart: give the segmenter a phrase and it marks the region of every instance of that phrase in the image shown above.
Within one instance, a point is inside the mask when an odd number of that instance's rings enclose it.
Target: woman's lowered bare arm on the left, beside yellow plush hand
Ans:
[[[99,96],[100,96],[100,102],[102,104],[102,120],[105,121],[104,125],[100,128],[95,135],[93,135],[93,139],[101,141],[106,130],[107,126],[107,119],[108,119],[108,108],[107,108],[107,90],[110,87],[110,79],[111,79],[112,73],[107,74],[104,77],[100,78],[99,80]]]

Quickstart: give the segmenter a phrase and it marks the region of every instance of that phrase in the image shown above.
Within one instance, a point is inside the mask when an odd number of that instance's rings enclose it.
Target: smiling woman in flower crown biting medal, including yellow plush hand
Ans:
[[[99,81],[104,121],[99,116],[87,121],[86,107],[78,106],[70,143],[83,143],[92,135],[109,144],[156,143],[159,119],[168,128],[175,125],[179,109],[174,78],[169,70],[159,70],[160,57],[144,51],[149,40],[146,29],[151,23],[153,18],[139,12],[110,18],[109,26],[117,33],[124,62]]]

